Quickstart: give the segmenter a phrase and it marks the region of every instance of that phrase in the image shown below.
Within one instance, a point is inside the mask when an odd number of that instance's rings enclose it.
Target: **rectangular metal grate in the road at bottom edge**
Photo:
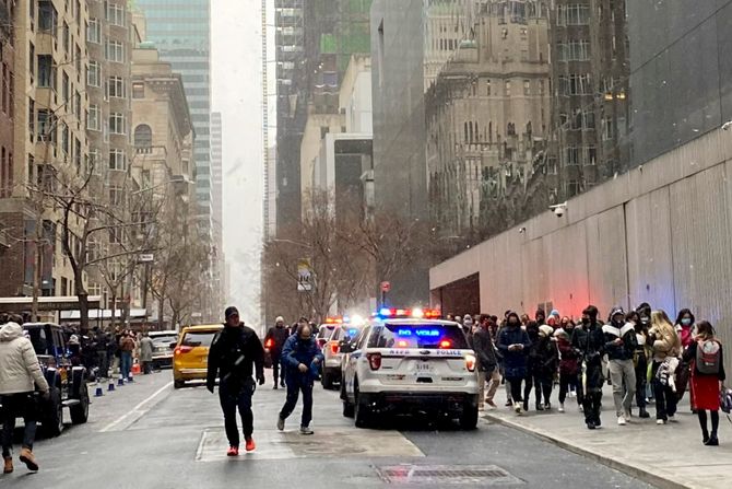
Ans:
[[[376,471],[386,484],[482,486],[522,485],[523,481],[495,465],[388,465]]]

